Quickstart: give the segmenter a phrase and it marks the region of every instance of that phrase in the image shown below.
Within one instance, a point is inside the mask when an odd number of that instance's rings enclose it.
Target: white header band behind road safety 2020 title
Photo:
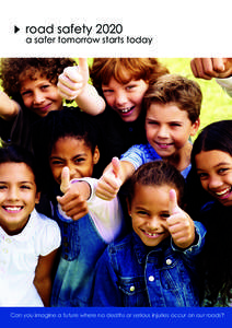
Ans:
[[[232,57],[231,12],[225,0],[3,0],[0,57]],[[34,37],[43,34],[33,35],[33,42],[26,43],[32,36],[26,34],[26,26],[51,24],[121,24],[121,35],[103,36],[125,40],[127,36],[141,36],[152,38],[152,43],[35,44]],[[18,33],[14,26],[20,28]],[[57,39],[56,34],[51,36]]]

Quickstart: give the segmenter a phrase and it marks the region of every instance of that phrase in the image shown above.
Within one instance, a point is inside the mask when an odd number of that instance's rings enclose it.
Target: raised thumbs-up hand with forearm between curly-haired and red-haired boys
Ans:
[[[89,83],[89,66],[86,58],[79,58],[79,66],[68,67],[59,75],[57,84],[61,96],[66,99],[74,99],[78,106],[85,113],[97,115],[105,109],[105,101],[95,87]]]

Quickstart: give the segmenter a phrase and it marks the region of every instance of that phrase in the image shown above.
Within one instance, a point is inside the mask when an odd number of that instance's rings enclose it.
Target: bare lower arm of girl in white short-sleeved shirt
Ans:
[[[57,249],[46,256],[39,256],[35,270],[34,285],[45,306],[50,305],[50,294],[53,285],[53,269],[57,255]]]

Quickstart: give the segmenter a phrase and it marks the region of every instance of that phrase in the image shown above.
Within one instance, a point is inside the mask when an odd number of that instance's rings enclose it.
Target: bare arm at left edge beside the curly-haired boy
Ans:
[[[0,91],[0,117],[11,120],[18,115],[19,110],[19,104],[12,101],[3,91]]]

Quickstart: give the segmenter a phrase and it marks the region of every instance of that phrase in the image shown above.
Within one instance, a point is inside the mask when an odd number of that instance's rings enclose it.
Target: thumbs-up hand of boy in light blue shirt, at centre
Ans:
[[[97,183],[96,196],[104,200],[114,199],[123,184],[121,174],[121,163],[114,157]]]

